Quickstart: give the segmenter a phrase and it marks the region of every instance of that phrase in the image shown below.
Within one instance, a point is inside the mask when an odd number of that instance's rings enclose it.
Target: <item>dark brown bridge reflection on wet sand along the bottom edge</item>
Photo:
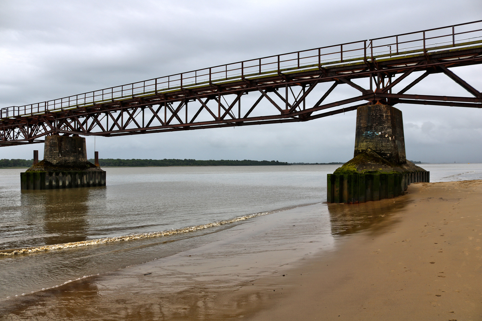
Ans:
[[[8,314],[6,320],[228,320],[256,311],[272,291],[257,286],[254,292],[236,292],[241,284],[234,291],[199,284],[175,294],[152,289],[112,296],[97,282],[101,277],[22,296],[0,312]]]

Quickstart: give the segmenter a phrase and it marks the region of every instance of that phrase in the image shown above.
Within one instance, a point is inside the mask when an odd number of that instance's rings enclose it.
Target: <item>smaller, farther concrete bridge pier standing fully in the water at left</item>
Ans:
[[[47,136],[44,159],[20,174],[22,190],[49,190],[58,188],[105,186],[106,172],[87,160],[85,138]],[[37,157],[35,157],[37,156]]]

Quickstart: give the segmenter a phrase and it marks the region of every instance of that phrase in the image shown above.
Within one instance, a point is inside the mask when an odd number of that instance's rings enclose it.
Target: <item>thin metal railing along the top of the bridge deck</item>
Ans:
[[[361,40],[304,51],[223,64],[165,77],[148,79],[102,90],[84,92],[41,103],[0,109],[0,118],[28,116],[196,89],[245,79],[296,73],[367,60],[392,59],[412,54],[427,54],[446,48],[463,48],[482,43],[482,20],[395,36]]]

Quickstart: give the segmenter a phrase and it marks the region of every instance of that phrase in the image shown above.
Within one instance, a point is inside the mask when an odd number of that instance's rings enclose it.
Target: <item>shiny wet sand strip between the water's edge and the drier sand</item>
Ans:
[[[31,297],[19,297],[14,306],[6,305],[8,310],[4,312],[10,313],[10,320],[249,317],[273,297],[283,295],[279,282],[267,282],[264,277],[279,277],[284,281],[282,274],[285,274],[288,280],[293,265],[286,264],[287,257],[298,255],[298,262],[302,262],[302,257],[311,251],[330,250],[333,236],[360,231],[383,233],[397,222],[390,214],[406,203],[401,197],[361,205],[312,205],[292,210],[291,214],[285,211],[287,220],[281,225],[273,224],[281,216],[259,218],[258,221],[264,219],[265,222],[225,231],[223,238],[232,238],[230,241],[206,244],[167,260],[155,260],[80,279]],[[261,228],[261,232],[247,233],[256,228]],[[241,233],[247,235],[241,237]],[[308,246],[314,247],[308,249]],[[298,251],[304,252],[300,256]],[[260,270],[260,260],[270,264],[267,272]]]

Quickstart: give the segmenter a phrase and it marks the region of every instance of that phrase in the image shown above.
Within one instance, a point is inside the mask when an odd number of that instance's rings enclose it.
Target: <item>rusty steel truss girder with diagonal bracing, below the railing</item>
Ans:
[[[450,60],[448,60],[450,59]],[[220,128],[248,126],[284,122],[300,122],[331,116],[355,110],[358,106],[382,101],[389,104],[410,103],[442,106],[482,108],[482,93],[455,75],[449,67],[481,64],[482,49],[468,49],[456,53],[444,52],[421,57],[394,59],[385,62],[365,62],[365,64],[320,68],[309,72],[290,75],[277,75],[257,81],[243,81],[228,85],[211,84],[199,90],[182,90],[170,95],[159,94],[148,98],[133,98],[122,102],[112,101],[82,107],[45,113],[42,115],[22,116],[0,120],[0,146],[11,146],[41,142],[39,138],[51,134],[121,136],[151,132],[192,130],[201,128]],[[412,83],[391,93],[400,87],[402,80],[414,72],[425,71]],[[434,95],[410,95],[405,92],[432,73],[443,73],[466,89],[474,97],[449,97]],[[401,74],[393,82],[392,77]],[[362,88],[353,79],[370,78],[375,80],[376,89]],[[321,82],[333,82],[322,97],[313,106],[306,108],[306,98]],[[372,81],[370,81],[372,83]],[[335,89],[344,85],[359,90],[362,95],[321,104]],[[299,89],[295,95],[296,88]],[[280,90],[285,91],[283,97]],[[289,92],[291,91],[291,96]],[[250,106],[241,108],[241,98],[245,94],[258,92],[259,97]],[[228,103],[229,96],[234,99]],[[291,97],[291,103],[290,99]],[[224,100],[224,102],[223,102]],[[281,101],[280,106],[276,100]],[[262,101],[273,106],[273,112],[263,116],[250,116]],[[209,102],[217,104],[208,106]],[[197,103],[196,113],[189,117],[188,105]],[[357,103],[355,105],[351,105]],[[238,104],[238,116],[235,105]],[[264,105],[266,106],[266,104]],[[302,107],[303,106],[303,107]],[[335,107],[342,108],[322,112]],[[284,107],[284,108],[283,108]],[[241,109],[244,109],[241,116]],[[147,113],[146,113],[147,111]],[[198,120],[201,113],[210,120]],[[147,115],[146,115],[147,114]],[[183,114],[183,115],[182,115]],[[184,119],[183,119],[184,118]],[[175,120],[175,121],[174,121]]]

